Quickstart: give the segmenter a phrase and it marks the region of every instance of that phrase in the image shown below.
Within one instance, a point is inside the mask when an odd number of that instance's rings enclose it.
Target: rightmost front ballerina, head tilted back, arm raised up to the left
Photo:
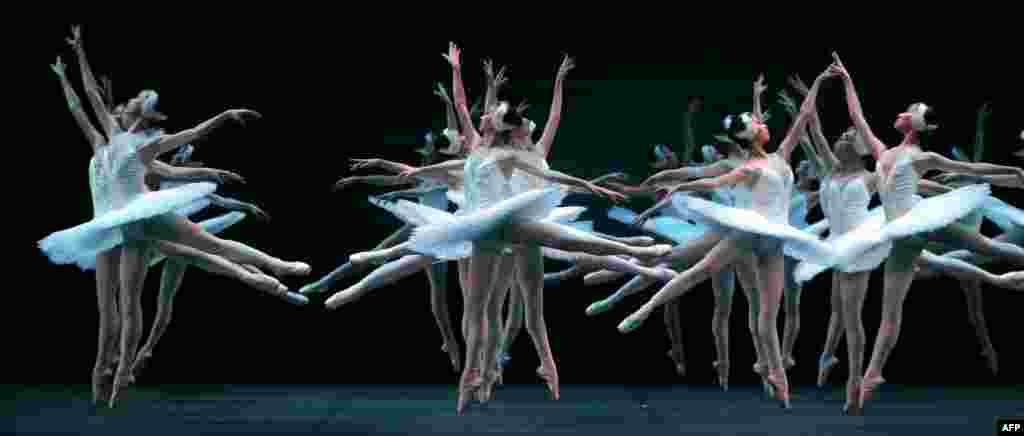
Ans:
[[[889,148],[871,131],[860,106],[856,89],[849,72],[843,66],[839,56],[834,53],[835,64],[830,71],[840,76],[846,88],[847,106],[850,118],[858,133],[871,149],[879,165],[879,193],[882,198],[887,224],[879,228],[861,232],[859,226],[851,231],[851,243],[840,246],[837,241],[839,256],[833,264],[848,263],[848,259],[870,250],[881,244],[892,242],[892,253],[885,263],[885,297],[883,299],[883,315],[879,330],[879,338],[874,344],[870,364],[861,380],[858,407],[868,399],[871,391],[885,383],[882,370],[889,358],[896,340],[899,337],[902,320],[902,304],[913,280],[914,260],[924,249],[924,239],[915,236],[929,230],[927,237],[942,237],[966,245],[970,250],[993,257],[1005,257],[1008,260],[1024,264],[1024,249],[1017,246],[992,241],[980,233],[952,221],[967,215],[987,197],[987,186],[971,189],[974,186],[957,189],[938,198],[919,201],[915,197],[920,174],[932,169],[956,171],[977,175],[1015,175],[1024,178],[1020,168],[983,163],[958,163],[948,160],[935,152],[922,150],[928,145],[931,136],[937,129],[933,123],[935,112],[925,103],[911,104],[905,113],[897,117],[895,128],[903,134],[903,140]],[[957,193],[959,192],[958,197]],[[958,199],[957,202],[942,202],[938,208],[928,209],[936,203],[930,200],[942,197]],[[950,207],[952,206],[952,207]],[[880,231],[881,230],[881,231]]]

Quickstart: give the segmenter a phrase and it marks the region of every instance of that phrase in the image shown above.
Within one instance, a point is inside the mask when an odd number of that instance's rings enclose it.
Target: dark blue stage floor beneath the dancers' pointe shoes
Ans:
[[[1024,416],[1024,386],[887,385],[864,417],[841,413],[838,386],[799,386],[793,408],[761,388],[501,387],[486,405],[455,413],[452,386],[168,385],[128,391],[115,409],[89,403],[87,386],[4,386],[5,429],[15,434],[479,434],[989,435],[997,416]],[[4,430],[6,433],[9,430]]]

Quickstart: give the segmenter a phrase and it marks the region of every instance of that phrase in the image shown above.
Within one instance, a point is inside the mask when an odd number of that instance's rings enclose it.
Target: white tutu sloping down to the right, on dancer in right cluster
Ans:
[[[831,247],[814,234],[799,230],[787,223],[772,221],[752,210],[722,206],[688,195],[673,195],[672,205],[685,215],[699,216],[699,221],[709,221],[746,233],[780,239],[787,247],[791,257],[795,259],[834,257]]]

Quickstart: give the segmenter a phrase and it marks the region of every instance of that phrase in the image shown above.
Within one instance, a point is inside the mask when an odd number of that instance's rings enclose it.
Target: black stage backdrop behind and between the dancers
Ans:
[[[287,31],[232,26],[190,25],[155,32],[142,42],[125,42],[128,38],[118,27],[87,26],[83,34],[93,71],[97,76],[111,76],[119,100],[143,88],[160,92],[160,107],[170,116],[165,124],[169,130],[190,127],[230,107],[263,114],[263,120],[248,127],[218,130],[197,145],[195,158],[244,175],[247,184],[227,185],[222,192],[254,202],[273,218],[269,223],[247,220],[222,236],[285,259],[309,262],[314,269],[309,279],[327,273],[349,254],[373,247],[399,225],[397,219],[366,202],[370,188],[332,193],[330,187],[349,174],[349,158],[414,161],[418,155],[413,149],[424,129],[443,128],[443,106],[431,95],[431,87],[437,81],[451,85],[451,71],[440,56],[449,38],[463,48],[471,99],[483,89],[480,60],[490,56],[498,64],[510,66],[511,86],[506,93],[528,98],[532,104],[528,117],[540,126],[547,119],[561,53],[575,57],[578,67],[568,77],[564,116],[550,164],[581,177],[615,170],[648,175],[645,161],[651,144],[669,142],[679,149],[688,96],[707,98],[696,136],[699,143],[709,142],[726,112],[750,108],[752,80],[761,72],[768,78],[766,103],[776,115],[771,124],[777,140],[786,117],[775,104],[775,92],[791,73],[812,81],[831,61],[830,49],[840,50],[869,122],[886,141],[899,140],[891,128],[895,115],[923,99],[942,113],[941,142],[969,145],[974,138],[975,111],[991,101],[986,158],[1020,163],[1010,158],[1021,127],[1014,108],[1019,101],[1002,96],[1005,87],[1018,84],[1002,81],[1006,51],[998,46],[962,41],[958,45],[930,42],[922,47],[883,40],[828,47],[819,41],[808,45],[781,39],[715,42],[712,36],[682,35],[625,41],[596,30],[587,38],[537,42],[521,36],[515,40],[435,37],[436,27],[407,29],[401,38],[365,43],[343,40],[313,26]],[[34,246],[47,233],[91,217],[86,182],[90,151],[47,63],[61,55],[79,92],[80,73],[73,51],[63,42],[70,34],[68,27],[36,30],[39,37],[30,67],[40,80],[33,82],[38,85],[33,85],[32,93],[37,99],[34,107],[44,117],[34,129],[45,132],[47,140],[29,147],[28,154],[34,156],[28,162],[33,169],[45,162],[52,176],[48,184],[31,185],[37,190],[30,195],[47,200],[34,203],[26,212],[31,220],[17,231],[11,251],[17,259],[15,270],[9,271],[13,274],[8,292],[18,303],[10,307],[25,320],[8,332],[17,345],[10,349],[8,360],[20,368],[4,372],[4,377],[9,383],[88,383],[97,325],[93,274],[52,265]],[[909,58],[908,52],[912,53]],[[830,138],[849,124],[844,94],[837,85],[819,97]],[[371,134],[378,124],[383,125],[383,142]],[[941,151],[948,156],[948,147]],[[996,191],[1011,203],[1019,205],[1022,200],[1013,192]],[[633,208],[646,206],[637,202]],[[603,201],[595,202],[594,215],[605,207]],[[626,230],[606,222],[599,225]],[[552,264],[551,270],[555,267],[561,266]],[[1006,266],[996,268],[1007,270]],[[146,285],[146,329],[155,313],[159,273],[151,271]],[[23,279],[27,281],[19,286],[13,281]],[[450,281],[456,284],[454,275]],[[287,281],[293,290],[304,282]],[[825,274],[804,291],[803,331],[791,383],[814,381],[828,311],[827,285]],[[633,298],[609,314],[584,315],[589,303],[610,294],[615,286],[547,290],[548,328],[562,383],[712,383],[710,285],[682,299],[689,366],[685,379],[676,376],[665,355],[669,343],[659,314],[629,336],[615,330],[650,294]],[[881,286],[881,274],[876,273],[864,308],[870,339],[878,328]],[[888,380],[1024,382],[1018,335],[1024,297],[990,287],[985,290],[985,313],[1000,357],[998,377],[989,375],[979,355],[956,282],[940,279],[920,281],[910,293],[899,348],[886,372]],[[455,325],[461,316],[458,296],[453,286],[450,301]],[[173,324],[139,383],[426,384],[457,380],[439,350],[441,341],[422,274],[334,312],[325,310],[323,301],[324,297],[316,297],[307,307],[293,307],[240,282],[190,269],[176,302]],[[749,369],[754,358],[746,303],[739,293],[731,332],[732,383],[754,383]],[[869,340],[868,347],[871,344]],[[834,383],[845,379],[845,346],[840,353],[844,362],[835,370]],[[513,350],[512,364],[508,383],[539,383],[534,375],[537,359],[525,332]]]

